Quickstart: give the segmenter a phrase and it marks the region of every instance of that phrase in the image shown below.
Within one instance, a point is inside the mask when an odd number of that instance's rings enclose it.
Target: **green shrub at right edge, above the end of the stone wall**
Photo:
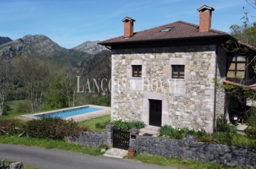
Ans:
[[[248,138],[256,139],[256,107],[251,108],[251,113],[247,116],[248,128],[245,133]]]

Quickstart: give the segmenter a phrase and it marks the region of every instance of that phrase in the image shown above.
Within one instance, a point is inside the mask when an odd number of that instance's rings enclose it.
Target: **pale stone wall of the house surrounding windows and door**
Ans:
[[[142,77],[132,65],[142,64]],[[185,66],[184,79],[172,79],[172,65]],[[212,79],[225,78],[225,51],[216,45],[112,49],[111,118],[149,125],[149,99],[162,100],[162,125],[214,131],[224,113],[224,93]]]

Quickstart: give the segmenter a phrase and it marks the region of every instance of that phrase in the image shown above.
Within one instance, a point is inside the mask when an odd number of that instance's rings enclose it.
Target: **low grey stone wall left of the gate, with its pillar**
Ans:
[[[66,142],[78,145],[99,147],[101,144],[107,144],[112,147],[112,125],[106,125],[106,132],[84,132],[77,136],[66,137]]]

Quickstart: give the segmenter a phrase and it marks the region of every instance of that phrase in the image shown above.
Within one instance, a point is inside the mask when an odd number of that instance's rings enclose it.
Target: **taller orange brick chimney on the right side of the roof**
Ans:
[[[214,11],[214,8],[203,5],[197,11],[200,12],[199,31],[209,31],[211,29],[211,11]]]

